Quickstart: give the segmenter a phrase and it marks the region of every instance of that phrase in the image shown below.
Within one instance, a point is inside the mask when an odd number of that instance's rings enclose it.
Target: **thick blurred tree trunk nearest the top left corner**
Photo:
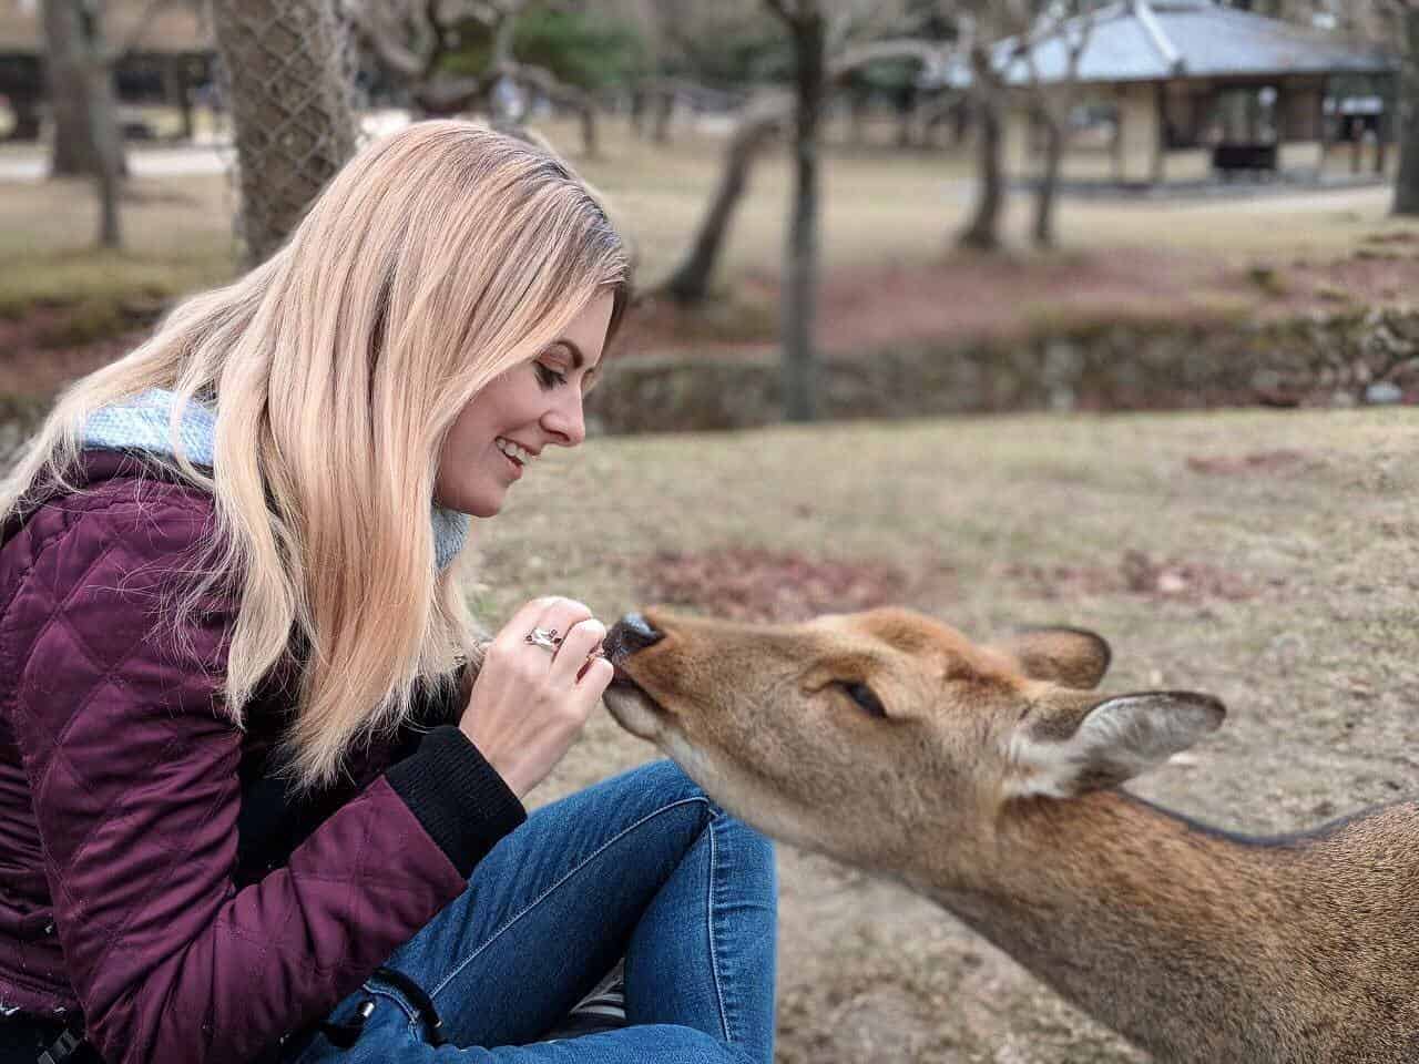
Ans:
[[[104,125],[114,129],[118,173],[126,174],[114,74],[104,57],[99,16],[88,13],[81,0],[45,0],[44,48],[54,115],[50,173],[55,177],[99,176],[94,129]]]

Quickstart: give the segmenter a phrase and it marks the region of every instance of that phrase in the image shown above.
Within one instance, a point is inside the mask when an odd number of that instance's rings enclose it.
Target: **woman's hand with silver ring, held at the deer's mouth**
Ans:
[[[555,628],[555,653],[526,641]],[[518,797],[546,779],[612,682],[612,664],[589,655],[606,626],[572,599],[534,599],[488,645],[458,726]]]

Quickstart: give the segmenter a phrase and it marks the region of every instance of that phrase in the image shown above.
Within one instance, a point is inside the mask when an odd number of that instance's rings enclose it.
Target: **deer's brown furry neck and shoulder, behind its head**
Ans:
[[[1405,1060],[1416,823],[1392,806],[1247,841],[1105,792],[1022,803],[979,867],[908,878],[1161,1060]]]

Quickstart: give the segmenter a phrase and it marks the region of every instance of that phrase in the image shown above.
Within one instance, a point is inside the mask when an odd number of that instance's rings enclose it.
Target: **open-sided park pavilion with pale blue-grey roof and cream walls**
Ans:
[[[1033,156],[1030,108],[1023,91],[1037,77],[1069,78],[1069,41],[1078,18],[1022,52],[1002,41],[996,64],[1020,89],[1006,122],[1006,159],[1027,170]],[[1026,58],[1029,55],[1029,61]],[[1176,167],[1281,170],[1324,166],[1352,105],[1365,99],[1365,121],[1381,148],[1389,136],[1385,102],[1395,98],[1399,64],[1382,50],[1334,31],[1222,7],[1213,0],[1124,0],[1093,14],[1078,55],[1076,92],[1091,116],[1108,119],[1111,176],[1118,183],[1155,184]],[[1378,112],[1375,104],[1378,102]],[[1358,156],[1357,156],[1358,159]]]

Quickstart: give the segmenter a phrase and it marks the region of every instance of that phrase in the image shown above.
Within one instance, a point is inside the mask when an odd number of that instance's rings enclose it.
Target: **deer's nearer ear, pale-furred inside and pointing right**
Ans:
[[[1148,691],[1026,716],[1010,741],[1013,797],[1073,797],[1114,787],[1222,725],[1212,695]]]

